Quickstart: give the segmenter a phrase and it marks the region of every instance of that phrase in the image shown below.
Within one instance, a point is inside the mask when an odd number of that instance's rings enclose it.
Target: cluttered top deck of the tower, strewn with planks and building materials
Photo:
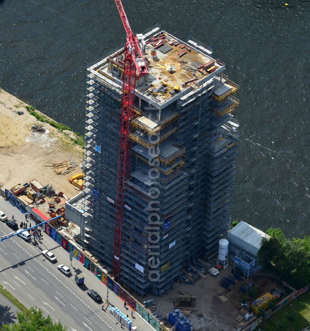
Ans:
[[[155,29],[156,30],[156,29]],[[151,31],[152,32],[152,31]],[[149,33],[151,33],[149,32]],[[224,66],[212,59],[211,50],[189,40],[182,42],[166,31],[156,30],[149,35],[137,35],[141,41],[143,55],[148,64],[149,74],[136,77],[136,96],[149,102],[154,107],[166,107],[168,101],[175,101],[188,92],[195,84],[208,80],[212,72],[221,71]],[[144,38],[149,38],[144,40]],[[124,72],[124,48],[107,56],[99,68],[91,68],[100,76],[110,77],[111,80],[122,81]]]

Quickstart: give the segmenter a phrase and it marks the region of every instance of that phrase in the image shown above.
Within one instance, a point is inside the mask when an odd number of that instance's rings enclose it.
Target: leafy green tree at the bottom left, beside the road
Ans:
[[[18,322],[14,324],[3,324],[1,331],[66,331],[60,321],[53,323],[50,315],[44,317],[41,309],[30,307],[24,312],[16,312]]]

